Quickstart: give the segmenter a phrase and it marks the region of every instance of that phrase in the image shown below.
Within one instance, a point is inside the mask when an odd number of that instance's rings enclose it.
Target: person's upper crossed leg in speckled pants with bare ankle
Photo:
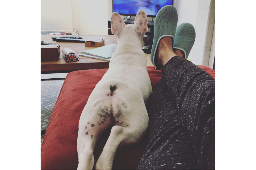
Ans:
[[[177,115],[189,135],[200,168],[214,169],[215,80],[190,61],[174,56],[170,43],[169,37],[161,39],[158,51],[161,49],[162,53],[157,56],[157,61],[162,61],[159,64],[163,66],[166,87],[175,100]],[[182,53],[179,49],[177,52]]]

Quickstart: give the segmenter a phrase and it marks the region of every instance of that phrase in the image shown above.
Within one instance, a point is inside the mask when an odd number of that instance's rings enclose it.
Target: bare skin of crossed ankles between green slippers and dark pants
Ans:
[[[172,51],[171,37],[163,37],[160,39],[156,53],[156,60],[160,66],[164,66],[174,56],[184,58],[183,51],[179,49],[175,49],[175,52]]]

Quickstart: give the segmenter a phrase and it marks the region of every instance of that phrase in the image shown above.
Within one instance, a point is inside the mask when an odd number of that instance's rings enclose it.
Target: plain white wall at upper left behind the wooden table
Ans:
[[[107,14],[106,0],[41,0],[41,31],[69,29],[79,35],[108,35]]]

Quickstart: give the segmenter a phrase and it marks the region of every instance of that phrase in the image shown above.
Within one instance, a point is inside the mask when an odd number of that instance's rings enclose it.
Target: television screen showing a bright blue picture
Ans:
[[[165,5],[172,5],[173,0],[113,0],[113,12],[120,15],[135,16],[141,9],[148,16],[156,16]]]

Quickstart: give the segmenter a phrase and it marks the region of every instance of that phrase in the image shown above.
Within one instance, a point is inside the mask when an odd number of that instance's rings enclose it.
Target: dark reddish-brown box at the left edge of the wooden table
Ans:
[[[58,61],[60,47],[56,45],[41,45],[41,61]]]

